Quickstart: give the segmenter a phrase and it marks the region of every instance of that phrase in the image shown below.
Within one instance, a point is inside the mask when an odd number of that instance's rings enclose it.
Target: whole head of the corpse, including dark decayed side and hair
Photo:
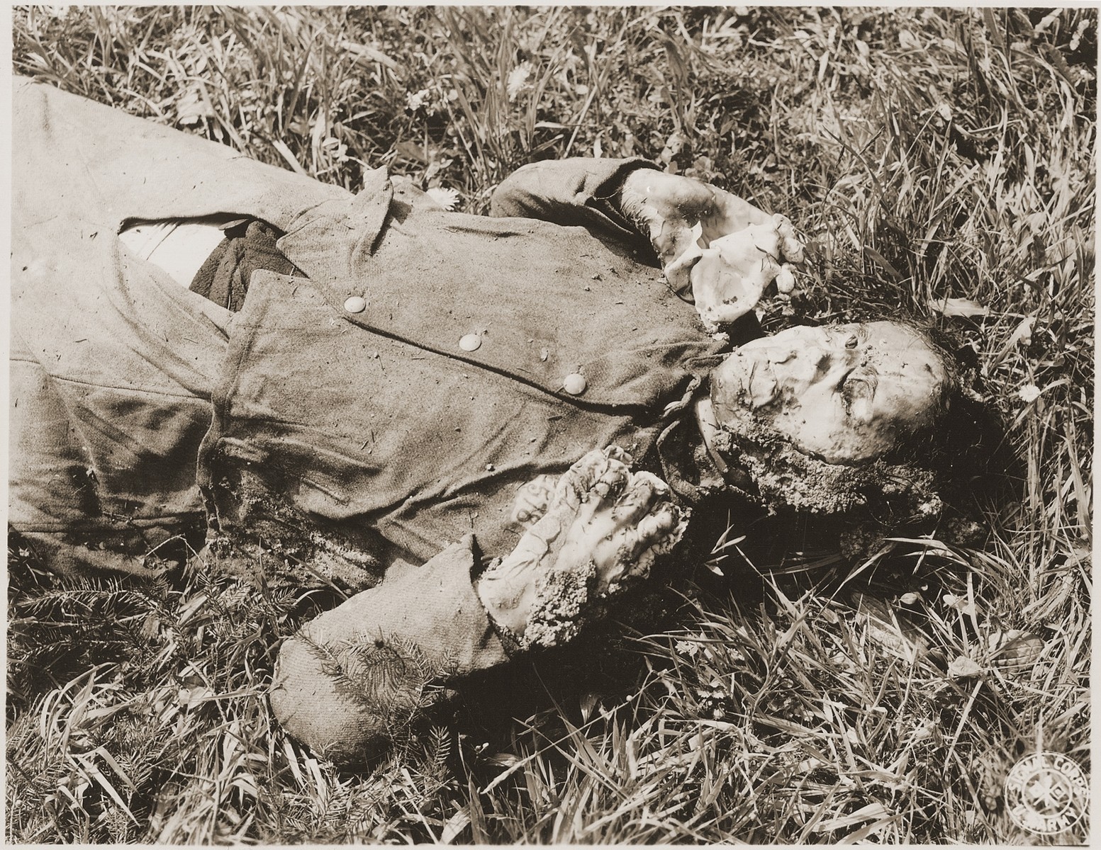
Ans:
[[[949,333],[895,321],[793,328],[741,353],[711,373],[709,439],[744,473],[730,488],[770,511],[859,510],[900,527],[941,516],[947,500],[973,515],[1013,463],[996,409],[970,389],[971,349]]]

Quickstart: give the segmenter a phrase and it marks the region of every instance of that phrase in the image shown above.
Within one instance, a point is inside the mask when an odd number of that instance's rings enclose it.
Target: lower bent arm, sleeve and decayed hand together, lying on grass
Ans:
[[[467,537],[308,622],[280,650],[275,717],[319,754],[363,761],[464,677],[571,640],[684,533],[666,485],[629,461],[612,448],[574,464],[546,515],[476,579]]]

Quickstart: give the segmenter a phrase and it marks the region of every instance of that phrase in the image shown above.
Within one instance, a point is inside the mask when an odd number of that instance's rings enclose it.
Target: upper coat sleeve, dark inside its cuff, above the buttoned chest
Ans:
[[[656,168],[646,159],[546,159],[519,168],[490,199],[490,214],[527,218],[565,227],[580,225],[652,251],[619,210],[614,196],[623,178],[636,168]]]

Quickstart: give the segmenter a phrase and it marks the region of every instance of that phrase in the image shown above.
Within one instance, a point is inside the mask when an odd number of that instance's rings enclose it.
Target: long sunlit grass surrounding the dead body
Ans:
[[[385,164],[481,212],[531,159],[642,155],[783,210],[815,250],[765,327],[936,317],[1023,472],[973,548],[684,564],[663,628],[523,665],[358,774],[263,697],[324,601],[195,568],[58,581],[12,539],[8,840],[1084,840],[1021,832],[1000,795],[1037,748],[1090,766],[1095,10],[90,7],[13,27],[17,73],[351,189]]]

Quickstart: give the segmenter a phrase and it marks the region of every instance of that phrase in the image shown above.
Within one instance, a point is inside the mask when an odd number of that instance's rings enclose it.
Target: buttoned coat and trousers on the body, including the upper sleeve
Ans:
[[[527,166],[475,217],[14,85],[10,522],[58,570],[140,571],[273,500],[353,549],[502,554],[517,485],[647,453],[720,351],[603,198],[637,162]],[[215,213],[283,231],[308,279],[257,273],[229,313],[118,240]]]

